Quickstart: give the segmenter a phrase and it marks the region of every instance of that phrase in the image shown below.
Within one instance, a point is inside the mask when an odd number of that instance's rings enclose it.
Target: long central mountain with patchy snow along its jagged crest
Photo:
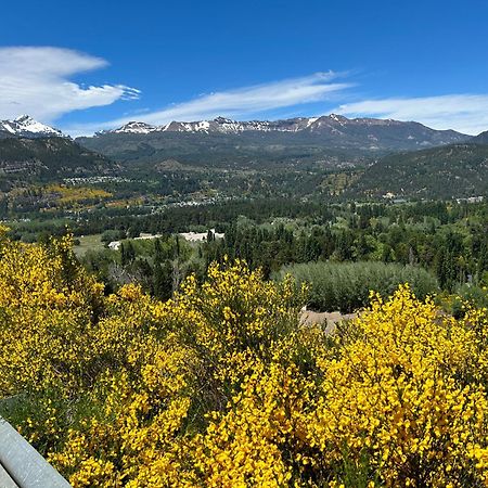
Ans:
[[[471,137],[414,121],[341,115],[237,121],[223,117],[150,126],[128,123],[78,138],[81,145],[131,167],[176,159],[182,165],[233,169],[357,166],[398,151],[465,142]]]

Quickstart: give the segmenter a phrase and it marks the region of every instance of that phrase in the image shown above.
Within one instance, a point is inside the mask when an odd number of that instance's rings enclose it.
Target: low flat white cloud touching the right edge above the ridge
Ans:
[[[488,95],[448,94],[411,99],[364,100],[334,110],[346,116],[415,120],[434,129],[477,134],[488,130]]]

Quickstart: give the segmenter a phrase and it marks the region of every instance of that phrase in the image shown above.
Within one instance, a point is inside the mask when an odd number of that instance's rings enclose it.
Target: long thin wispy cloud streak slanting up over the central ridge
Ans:
[[[248,117],[266,111],[320,102],[334,98],[338,92],[351,87],[351,84],[333,82],[344,76],[333,72],[316,73],[301,78],[290,78],[264,85],[254,85],[235,90],[204,94],[188,102],[170,105],[162,111],[138,115],[137,119],[153,125],[163,125],[171,120],[201,120],[226,117]],[[121,117],[101,124],[89,124],[67,128],[72,134],[90,133],[100,129],[121,126],[132,117]]]

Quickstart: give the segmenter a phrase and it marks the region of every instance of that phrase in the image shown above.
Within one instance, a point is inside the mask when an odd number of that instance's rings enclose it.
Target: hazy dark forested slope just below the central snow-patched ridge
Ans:
[[[151,171],[154,165],[176,159],[190,169],[283,168],[314,164],[320,167],[361,162],[363,151],[330,145],[319,138],[286,132],[235,134],[156,132],[107,133],[77,141],[128,168]]]

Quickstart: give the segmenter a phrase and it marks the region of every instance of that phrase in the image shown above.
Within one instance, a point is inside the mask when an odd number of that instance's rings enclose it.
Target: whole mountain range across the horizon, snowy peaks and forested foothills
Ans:
[[[74,141],[29,116],[0,121],[0,176],[8,182],[132,170],[158,178],[167,168],[257,175],[357,168],[351,197],[478,195],[487,192],[488,131],[471,137],[414,121],[331,114],[165,126],[132,121]]]

